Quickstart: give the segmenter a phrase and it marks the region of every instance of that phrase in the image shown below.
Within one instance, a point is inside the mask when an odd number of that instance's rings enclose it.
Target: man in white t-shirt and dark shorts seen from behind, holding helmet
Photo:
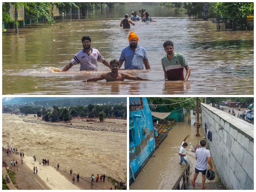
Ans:
[[[194,173],[193,179],[191,179],[191,182],[194,186],[199,172],[202,172],[202,189],[205,189],[204,183],[206,180],[207,162],[210,165],[210,169],[213,170],[212,161],[210,159],[210,151],[206,149],[205,146],[206,146],[206,140],[201,140],[200,148],[198,148],[195,153],[195,157],[196,157],[195,173]]]

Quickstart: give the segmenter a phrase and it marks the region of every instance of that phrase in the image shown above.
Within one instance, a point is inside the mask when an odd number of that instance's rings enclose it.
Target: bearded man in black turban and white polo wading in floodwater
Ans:
[[[82,37],[82,46],[84,49],[76,53],[75,57],[64,67],[62,72],[68,71],[73,65],[80,63],[80,71],[97,71],[97,62],[101,62],[110,68],[110,64],[102,57],[97,49],[91,48],[91,38]]]

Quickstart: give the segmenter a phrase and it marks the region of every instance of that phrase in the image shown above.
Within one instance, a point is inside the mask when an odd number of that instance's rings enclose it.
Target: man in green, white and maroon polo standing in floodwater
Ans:
[[[163,44],[167,53],[162,58],[162,68],[165,73],[165,80],[183,80],[187,81],[190,76],[190,68],[184,56],[180,53],[174,53],[174,44],[172,41],[166,41]],[[186,77],[184,78],[183,68],[186,69]]]

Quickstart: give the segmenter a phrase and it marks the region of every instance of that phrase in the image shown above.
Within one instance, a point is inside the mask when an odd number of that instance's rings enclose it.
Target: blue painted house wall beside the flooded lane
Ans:
[[[135,177],[155,148],[152,115],[146,97],[129,98],[129,165]],[[134,117],[141,116],[141,117]],[[143,132],[144,128],[148,128]],[[132,173],[129,169],[129,179]]]

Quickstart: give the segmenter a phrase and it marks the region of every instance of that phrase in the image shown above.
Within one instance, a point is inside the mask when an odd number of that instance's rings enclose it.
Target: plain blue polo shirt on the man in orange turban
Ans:
[[[146,50],[139,46],[135,51],[130,46],[124,48],[119,58],[119,60],[124,61],[124,69],[143,69],[143,60],[147,59]]]

